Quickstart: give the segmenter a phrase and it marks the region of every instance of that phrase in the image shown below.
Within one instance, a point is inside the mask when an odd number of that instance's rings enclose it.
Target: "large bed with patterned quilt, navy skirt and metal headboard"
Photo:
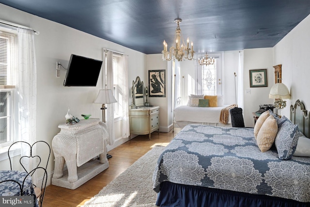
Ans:
[[[309,137],[309,114],[299,100],[291,106],[291,120],[282,121],[277,147],[272,145],[266,152],[259,149],[254,128],[184,127],[157,161],[156,205],[309,207],[310,157],[294,156],[298,144],[294,150],[284,150],[291,156],[285,157],[279,144],[285,126],[294,123],[299,130],[294,127],[292,143],[298,141],[299,131]]]

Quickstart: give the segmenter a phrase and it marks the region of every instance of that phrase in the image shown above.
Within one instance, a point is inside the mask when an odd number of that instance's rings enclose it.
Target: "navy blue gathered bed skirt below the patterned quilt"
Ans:
[[[290,199],[162,182],[159,207],[310,207]]]

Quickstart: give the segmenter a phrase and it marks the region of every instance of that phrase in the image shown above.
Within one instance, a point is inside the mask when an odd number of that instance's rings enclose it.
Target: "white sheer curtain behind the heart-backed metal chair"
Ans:
[[[19,140],[33,144],[36,141],[36,95],[37,72],[34,49],[34,32],[28,29],[18,28],[18,134]],[[35,154],[35,147],[32,153]],[[22,156],[29,156],[28,148],[21,149]],[[36,166],[36,160],[24,159],[26,170]],[[34,183],[36,176],[32,177]]]

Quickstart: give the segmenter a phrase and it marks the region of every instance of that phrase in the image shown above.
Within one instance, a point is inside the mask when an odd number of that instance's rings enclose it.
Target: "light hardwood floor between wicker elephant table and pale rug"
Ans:
[[[152,149],[154,145],[167,145],[177,134],[174,132],[153,132],[151,140],[149,135],[139,135],[112,150],[109,154],[109,168],[93,177],[76,190],[70,190],[53,185],[47,186],[43,206],[44,207],[79,207],[96,195],[103,187],[123,173],[137,159]]]

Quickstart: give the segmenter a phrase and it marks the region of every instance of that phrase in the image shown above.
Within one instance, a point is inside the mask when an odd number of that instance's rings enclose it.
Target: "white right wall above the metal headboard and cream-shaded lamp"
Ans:
[[[290,90],[282,115],[290,117],[290,105],[301,100],[310,111],[310,16],[289,32],[273,50],[273,64],[282,64],[282,83]]]

